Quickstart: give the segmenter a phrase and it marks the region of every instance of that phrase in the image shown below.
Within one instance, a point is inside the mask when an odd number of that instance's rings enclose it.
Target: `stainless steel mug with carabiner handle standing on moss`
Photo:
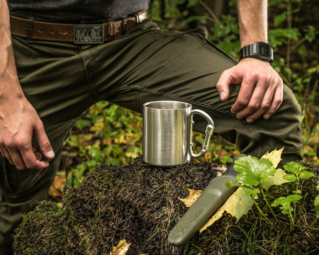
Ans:
[[[193,152],[191,142],[194,114],[208,121],[201,152]],[[208,149],[214,123],[201,110],[192,110],[190,103],[153,101],[143,105],[143,161],[155,166],[185,164],[190,157],[199,158]]]

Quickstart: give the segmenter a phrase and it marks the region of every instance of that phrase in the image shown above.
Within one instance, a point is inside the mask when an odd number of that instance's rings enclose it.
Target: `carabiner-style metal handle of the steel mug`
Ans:
[[[191,137],[192,137],[192,132],[193,132],[193,125],[194,125],[194,114],[199,114],[202,115],[203,118],[206,118],[206,120],[208,121],[208,125],[206,126],[206,136],[205,136],[205,140],[203,142],[203,147],[201,149],[201,152],[199,152],[198,154],[195,154],[193,152],[193,142],[191,141]],[[211,141],[211,136],[213,135],[213,131],[214,131],[214,122],[211,118],[210,115],[208,115],[207,113],[205,113],[204,111],[201,110],[193,110],[191,111],[191,113],[189,114],[189,141],[188,141],[188,151],[189,151],[189,155],[191,155],[191,157],[193,157],[194,159],[198,159],[200,157],[203,156],[203,154],[205,154],[207,152],[208,146],[209,146],[209,142]]]

